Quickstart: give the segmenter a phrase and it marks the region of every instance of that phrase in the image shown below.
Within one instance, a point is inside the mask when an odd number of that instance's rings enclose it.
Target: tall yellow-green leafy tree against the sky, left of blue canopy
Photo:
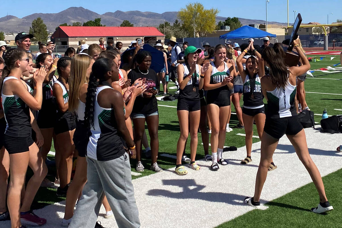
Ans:
[[[208,32],[215,29],[216,15],[218,9],[205,9],[199,3],[189,3],[178,12],[178,17],[183,22],[183,27],[190,33],[198,34],[200,37],[206,36]],[[195,36],[196,36],[195,34]]]

